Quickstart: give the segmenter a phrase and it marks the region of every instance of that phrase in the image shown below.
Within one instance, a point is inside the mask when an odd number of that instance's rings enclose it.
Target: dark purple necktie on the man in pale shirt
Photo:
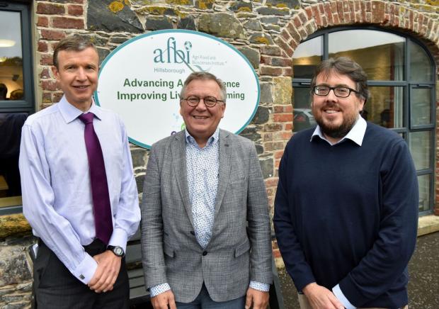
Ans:
[[[93,118],[93,113],[84,113],[79,116],[79,119],[86,125],[84,139],[86,141],[87,157],[89,157],[96,237],[108,245],[113,233],[113,220],[111,217],[106,167],[103,163],[101,143],[93,128]]]

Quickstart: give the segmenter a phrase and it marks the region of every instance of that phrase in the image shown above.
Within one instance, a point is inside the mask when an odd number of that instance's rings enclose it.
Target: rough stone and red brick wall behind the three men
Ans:
[[[136,35],[171,28],[210,33],[241,50],[261,83],[260,106],[241,135],[256,144],[271,213],[278,164],[292,135],[292,55],[300,42],[327,27],[380,26],[411,33],[426,44],[439,63],[437,0],[47,0],[33,4],[38,108],[50,106],[62,96],[50,71],[52,51],[59,39],[72,33],[91,38],[101,60]],[[438,98],[439,84],[436,89]],[[436,156],[439,162],[439,152]],[[133,145],[132,157],[142,191],[147,150]],[[438,185],[436,192],[439,201]],[[439,208],[436,210],[439,214]],[[2,220],[24,219],[11,215]],[[29,234],[30,227],[21,223],[8,225],[8,230],[6,225],[0,224],[0,308],[23,308],[23,303],[14,304],[29,300],[31,266],[26,248],[31,240],[20,233]]]

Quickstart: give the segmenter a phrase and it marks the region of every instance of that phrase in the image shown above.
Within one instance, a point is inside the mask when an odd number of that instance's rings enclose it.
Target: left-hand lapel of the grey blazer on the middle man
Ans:
[[[176,175],[178,190],[180,191],[184,207],[193,226],[192,206],[190,204],[188,189],[188,172],[186,170],[186,141],[185,131],[176,133],[176,138],[171,144],[173,174]]]

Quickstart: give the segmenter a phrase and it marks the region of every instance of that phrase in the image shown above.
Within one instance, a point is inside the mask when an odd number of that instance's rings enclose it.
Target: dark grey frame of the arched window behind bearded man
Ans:
[[[329,33],[338,32],[338,31],[344,31],[344,30],[375,30],[375,31],[382,31],[384,33],[391,33],[394,35],[399,35],[400,37],[405,39],[405,45],[404,45],[404,79],[401,81],[380,81],[380,80],[374,80],[374,81],[367,81],[368,86],[402,86],[403,87],[403,96],[404,96],[404,106],[403,106],[403,123],[404,127],[402,128],[390,128],[389,130],[393,130],[396,133],[399,133],[402,135],[404,140],[406,140],[407,145],[409,145],[410,142],[410,134],[414,132],[425,132],[429,131],[431,132],[431,149],[430,149],[430,167],[428,169],[420,169],[416,170],[416,176],[422,176],[429,174],[430,175],[430,204],[428,205],[428,210],[421,210],[419,211],[419,215],[427,215],[433,213],[433,209],[435,206],[435,147],[436,147],[436,117],[435,117],[435,86],[436,86],[436,79],[437,76],[435,74],[436,72],[436,64],[434,61],[433,56],[431,55],[431,52],[426,48],[426,45],[421,42],[421,40],[418,40],[417,38],[412,37],[411,35],[408,35],[406,33],[400,33],[396,30],[377,27],[377,26],[364,26],[364,27],[358,27],[358,26],[343,26],[343,27],[331,27],[331,28],[325,28],[324,30],[319,30],[312,35],[309,35],[309,37],[302,41],[301,43],[312,40],[314,38],[318,38],[319,36],[322,36],[322,60],[329,59]],[[410,78],[410,65],[411,65],[411,59],[410,59],[410,41],[411,43],[414,43],[415,45],[418,45],[418,47],[421,47],[424,52],[426,52],[426,55],[428,59],[431,62],[431,81],[411,81]],[[294,72],[294,67],[293,67]],[[308,87],[311,84],[311,79],[295,79],[294,75],[292,77],[292,88],[293,91],[295,88],[304,88]],[[411,94],[413,89],[431,89],[431,123],[426,125],[411,125]],[[294,99],[294,98],[293,98]],[[293,111],[294,113],[294,111]]]

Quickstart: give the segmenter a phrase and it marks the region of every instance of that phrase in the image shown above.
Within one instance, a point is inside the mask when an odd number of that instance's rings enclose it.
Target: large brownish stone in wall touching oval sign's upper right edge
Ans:
[[[198,21],[198,30],[224,38],[246,38],[239,20],[227,13],[204,14]]]

